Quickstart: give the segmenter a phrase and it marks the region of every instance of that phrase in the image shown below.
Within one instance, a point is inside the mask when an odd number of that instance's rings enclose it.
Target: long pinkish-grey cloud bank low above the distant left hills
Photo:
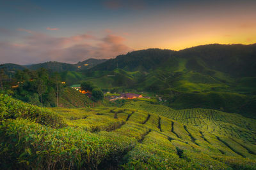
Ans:
[[[56,60],[76,63],[89,58],[106,59],[132,50],[125,45],[125,38],[115,34],[95,37],[78,34],[68,37],[54,37],[42,32],[26,29],[29,35],[19,39],[20,43],[0,41],[0,64],[33,64]]]

